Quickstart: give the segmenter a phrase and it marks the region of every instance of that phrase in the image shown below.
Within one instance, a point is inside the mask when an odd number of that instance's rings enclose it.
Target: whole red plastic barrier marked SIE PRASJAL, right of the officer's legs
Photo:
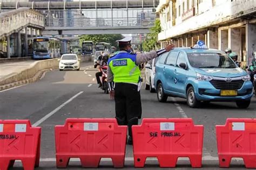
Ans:
[[[188,157],[192,167],[201,167],[203,133],[191,118],[144,118],[132,126],[134,166],[157,157],[160,167],[175,167],[179,157]]]

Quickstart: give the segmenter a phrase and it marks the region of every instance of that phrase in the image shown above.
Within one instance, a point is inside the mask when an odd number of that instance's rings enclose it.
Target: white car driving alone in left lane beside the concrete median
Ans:
[[[62,58],[58,59],[59,70],[64,69],[80,69],[80,59],[78,59],[76,54],[63,54]]]

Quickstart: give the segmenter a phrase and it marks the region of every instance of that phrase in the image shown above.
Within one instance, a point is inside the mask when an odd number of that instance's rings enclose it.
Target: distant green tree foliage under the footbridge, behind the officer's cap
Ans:
[[[83,41],[93,41],[96,42],[107,42],[110,43],[111,46],[117,47],[116,40],[122,39],[123,36],[121,34],[95,34],[95,35],[84,35],[80,37],[80,45],[82,45]]]

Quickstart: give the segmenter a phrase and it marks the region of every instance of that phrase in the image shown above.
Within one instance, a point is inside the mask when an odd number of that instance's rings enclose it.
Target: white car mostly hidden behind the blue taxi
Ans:
[[[150,90],[151,93],[156,91],[154,87],[154,75],[156,74],[156,63],[158,58],[154,58],[147,62],[145,68],[145,83],[146,83],[146,90]]]

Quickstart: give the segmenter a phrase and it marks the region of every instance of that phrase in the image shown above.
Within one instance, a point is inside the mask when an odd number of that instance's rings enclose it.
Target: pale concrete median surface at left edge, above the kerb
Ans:
[[[0,63],[0,81],[5,77],[21,73],[23,70],[32,67],[37,61],[19,61],[19,62],[6,62]]]

